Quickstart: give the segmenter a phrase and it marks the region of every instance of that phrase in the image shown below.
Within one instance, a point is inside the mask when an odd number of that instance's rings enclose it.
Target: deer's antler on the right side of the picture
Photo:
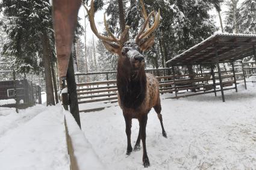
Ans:
[[[142,26],[142,29],[140,30],[139,34],[136,37],[136,43],[139,44],[140,41],[142,41],[143,39],[147,38],[150,34],[152,34],[152,32],[155,31],[155,29],[157,29],[159,23],[160,23],[160,10],[158,9],[158,13],[155,14],[154,11],[152,11],[148,16],[145,10],[145,6],[143,4],[143,1],[140,0],[140,3],[142,4],[142,14],[144,16],[145,19],[145,23]],[[149,18],[152,16],[152,14],[154,14],[155,16],[155,21],[154,24],[151,26],[151,28],[149,28]],[[146,32],[145,29],[147,28]]]

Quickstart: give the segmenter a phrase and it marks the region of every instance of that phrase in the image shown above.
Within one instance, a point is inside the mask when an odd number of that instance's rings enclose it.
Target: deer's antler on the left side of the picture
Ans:
[[[91,29],[92,29],[93,33],[96,35],[96,37],[98,37],[100,40],[109,41],[109,42],[115,42],[115,43],[117,43],[119,45],[122,45],[123,43],[125,43],[125,37],[126,37],[125,35],[128,33],[128,30],[130,28],[129,26],[125,26],[125,30],[122,32],[122,34],[120,36],[120,39],[114,37],[114,35],[111,33],[110,29],[108,28],[106,17],[105,17],[105,13],[104,13],[104,25],[105,25],[105,29],[107,30],[107,32],[110,35],[110,37],[101,35],[101,34],[99,34],[99,32],[98,32],[98,30],[96,28],[96,25],[95,25],[95,20],[94,20],[94,1],[91,0],[90,10],[88,10],[86,5],[84,5],[84,8],[86,8],[87,14],[89,16],[89,21],[90,21]]]

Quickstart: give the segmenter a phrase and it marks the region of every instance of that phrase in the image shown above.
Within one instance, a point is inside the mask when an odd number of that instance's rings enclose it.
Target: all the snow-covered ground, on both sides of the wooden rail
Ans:
[[[256,169],[252,83],[248,90],[239,85],[238,93],[225,91],[225,103],[220,93],[179,100],[166,99],[169,96],[161,96],[167,139],[161,135],[155,112],[149,113],[148,169]],[[142,150],[126,156],[125,121],[117,103],[109,105],[103,111],[80,114],[84,136],[78,127],[69,129],[79,146],[78,162],[87,167],[102,163],[104,169],[144,169]],[[69,169],[63,117],[60,105],[37,105],[19,114],[1,115],[0,169]],[[72,118],[67,114],[66,118],[70,124]],[[138,131],[139,123],[133,120],[133,145]]]

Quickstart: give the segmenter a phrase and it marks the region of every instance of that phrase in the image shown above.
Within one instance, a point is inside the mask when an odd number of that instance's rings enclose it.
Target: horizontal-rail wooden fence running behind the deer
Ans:
[[[148,69],[147,73],[152,73],[158,79],[160,94],[173,93],[172,99],[180,97],[195,96],[205,93],[215,93],[220,91],[217,86],[220,85],[218,72],[211,73],[193,73],[193,74],[175,74],[172,68]],[[89,75],[105,75],[105,80],[95,82],[81,82],[82,76]],[[117,85],[116,79],[108,79],[110,74],[116,74],[116,71],[104,71],[95,73],[78,73],[80,83],[77,84],[78,104],[104,102],[117,102]],[[223,90],[237,90],[236,81],[242,80],[243,73],[234,74],[233,70],[221,71]],[[235,83],[235,86],[233,84]],[[216,90],[217,89],[217,90]],[[184,94],[186,91],[192,90],[193,94]],[[175,96],[174,96],[175,94]],[[104,109],[81,109],[80,112],[92,112]]]

